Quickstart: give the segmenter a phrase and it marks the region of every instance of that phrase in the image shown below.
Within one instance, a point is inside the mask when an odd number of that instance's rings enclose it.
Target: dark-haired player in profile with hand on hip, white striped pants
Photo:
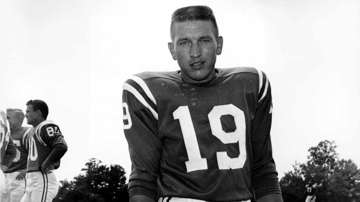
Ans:
[[[46,120],[48,105],[42,100],[29,100],[25,117],[33,127],[28,133],[29,155],[26,167],[26,190],[21,202],[51,202],[59,190],[54,169],[67,151],[60,128]]]

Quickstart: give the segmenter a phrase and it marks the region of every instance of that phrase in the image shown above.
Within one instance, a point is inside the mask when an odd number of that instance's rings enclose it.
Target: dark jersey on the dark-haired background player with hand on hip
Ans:
[[[28,141],[29,154],[26,172],[40,171],[42,163],[48,158],[55,145],[66,145],[59,126],[49,120],[39,123],[35,128],[32,127],[28,134]],[[59,166],[60,160],[50,165],[48,170],[57,169]]]

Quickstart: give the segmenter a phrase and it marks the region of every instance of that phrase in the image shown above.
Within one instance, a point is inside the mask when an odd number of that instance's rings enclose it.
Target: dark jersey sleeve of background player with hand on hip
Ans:
[[[67,144],[59,126],[46,124],[41,128],[40,136],[53,147],[53,151],[45,161],[50,161],[49,164],[59,161],[67,151]]]

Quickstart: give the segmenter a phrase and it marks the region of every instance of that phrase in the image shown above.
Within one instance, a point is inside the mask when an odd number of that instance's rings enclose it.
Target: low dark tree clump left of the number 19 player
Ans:
[[[129,201],[125,170],[120,165],[100,165],[102,161],[90,159],[72,181],[61,180],[54,202],[107,202]]]

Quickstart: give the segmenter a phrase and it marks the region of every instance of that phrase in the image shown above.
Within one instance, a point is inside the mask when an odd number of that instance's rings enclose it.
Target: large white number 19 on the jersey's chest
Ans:
[[[185,162],[187,172],[207,169],[206,158],[201,158],[199,145],[195,135],[193,122],[188,106],[180,106],[173,113],[174,119],[179,119],[181,132],[183,132],[186,152],[189,161]],[[236,130],[225,132],[222,130],[220,117],[231,115],[234,117]],[[239,142],[240,154],[237,158],[230,158],[226,151],[216,152],[219,169],[243,168],[246,161],[246,124],[244,112],[233,104],[213,107],[208,114],[212,135],[215,135],[224,144]]]

